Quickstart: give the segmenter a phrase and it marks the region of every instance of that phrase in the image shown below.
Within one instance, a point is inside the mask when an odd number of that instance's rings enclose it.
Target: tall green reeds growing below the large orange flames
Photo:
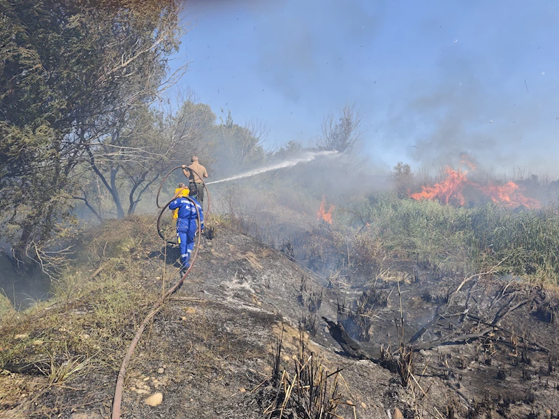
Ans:
[[[347,211],[370,223],[365,234],[400,258],[445,272],[480,271],[500,263],[505,273],[559,284],[559,208],[510,209],[492,203],[453,207],[433,201],[368,196]]]

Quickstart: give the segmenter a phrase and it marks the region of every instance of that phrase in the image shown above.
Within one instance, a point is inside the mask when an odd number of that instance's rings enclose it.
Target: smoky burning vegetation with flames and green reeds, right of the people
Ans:
[[[340,154],[210,190],[228,222],[324,276],[382,251],[441,274],[500,263],[502,274],[557,284],[556,180],[401,163],[383,177],[353,162]]]

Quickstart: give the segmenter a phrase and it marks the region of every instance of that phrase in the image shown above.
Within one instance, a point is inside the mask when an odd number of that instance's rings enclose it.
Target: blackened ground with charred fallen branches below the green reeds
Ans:
[[[395,351],[401,297],[415,374],[447,386],[458,402],[455,416],[559,417],[557,298],[544,288],[491,276],[472,277],[456,293],[462,282],[424,272],[400,282],[400,295],[390,282],[354,286],[348,290],[353,307],[348,304],[340,318],[373,355],[379,346]],[[360,314],[370,319],[360,322]]]

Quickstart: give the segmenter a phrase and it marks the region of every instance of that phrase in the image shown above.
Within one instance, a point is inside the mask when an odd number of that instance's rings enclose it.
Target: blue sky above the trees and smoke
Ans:
[[[190,1],[173,66],[268,146],[312,140],[355,103],[363,151],[440,167],[558,173],[559,4],[550,1]],[[559,174],[559,173],[558,173]]]

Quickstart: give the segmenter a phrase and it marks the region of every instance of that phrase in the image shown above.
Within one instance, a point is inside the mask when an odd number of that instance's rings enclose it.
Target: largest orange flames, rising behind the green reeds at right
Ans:
[[[464,186],[470,185],[491,198],[494,203],[502,204],[507,207],[519,207],[524,205],[525,207],[539,208],[542,206],[538,200],[524,196],[520,186],[514,182],[510,181],[502,186],[482,186],[477,182],[467,180],[466,173],[461,170],[457,172],[451,168],[446,168],[445,171],[448,176],[442,182],[434,186],[421,186],[421,192],[409,193],[409,197],[415,200],[439,199],[445,204],[454,202],[458,203],[458,205],[464,205],[465,199],[462,190]]]

